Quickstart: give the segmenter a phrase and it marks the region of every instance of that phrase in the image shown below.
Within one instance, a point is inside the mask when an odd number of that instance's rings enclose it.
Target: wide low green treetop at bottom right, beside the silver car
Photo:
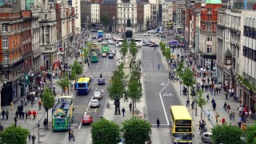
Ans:
[[[223,125],[214,126],[212,129],[212,140],[214,144],[243,144],[242,130],[238,126]]]

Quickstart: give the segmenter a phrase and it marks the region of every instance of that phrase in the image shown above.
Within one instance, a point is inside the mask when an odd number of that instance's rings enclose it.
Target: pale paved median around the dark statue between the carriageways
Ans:
[[[118,65],[118,59],[121,60],[121,54],[119,52],[119,50],[116,50],[116,65]],[[142,58],[142,50],[138,51],[138,55],[137,58],[141,59]],[[144,83],[143,83],[143,79],[141,78],[141,82],[142,82],[142,89],[144,87]],[[124,98],[120,99],[120,115],[114,115],[114,100],[110,100],[110,98],[107,99],[107,102],[110,103],[110,108],[105,108],[102,111],[102,115],[104,118],[114,121],[115,123],[117,123],[119,126],[122,126],[122,122],[125,121],[126,119],[130,119],[133,116],[133,112],[130,111],[129,108],[129,104],[130,102],[132,102],[129,98],[128,98],[128,102],[124,102]],[[138,115],[141,118],[145,118],[146,116],[146,98],[145,98],[145,94],[142,94],[142,99],[141,102],[138,102],[136,104],[134,104],[134,116]],[[124,108],[126,110],[124,117],[122,116],[122,108]]]

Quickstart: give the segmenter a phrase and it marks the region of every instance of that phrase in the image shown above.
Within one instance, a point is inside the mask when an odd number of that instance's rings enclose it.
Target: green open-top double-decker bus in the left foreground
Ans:
[[[61,96],[52,110],[53,131],[68,131],[73,121],[73,97]]]

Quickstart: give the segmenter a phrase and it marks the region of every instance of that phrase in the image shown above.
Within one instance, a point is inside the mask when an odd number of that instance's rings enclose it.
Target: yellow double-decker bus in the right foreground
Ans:
[[[174,144],[191,144],[192,118],[186,106],[170,106],[170,133]]]

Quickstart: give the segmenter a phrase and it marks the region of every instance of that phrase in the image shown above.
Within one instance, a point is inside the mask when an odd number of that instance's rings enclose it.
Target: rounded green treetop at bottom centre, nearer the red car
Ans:
[[[113,121],[106,120],[105,118],[102,118],[91,125],[90,134],[94,144],[118,143],[118,139],[120,138],[118,125]]]

